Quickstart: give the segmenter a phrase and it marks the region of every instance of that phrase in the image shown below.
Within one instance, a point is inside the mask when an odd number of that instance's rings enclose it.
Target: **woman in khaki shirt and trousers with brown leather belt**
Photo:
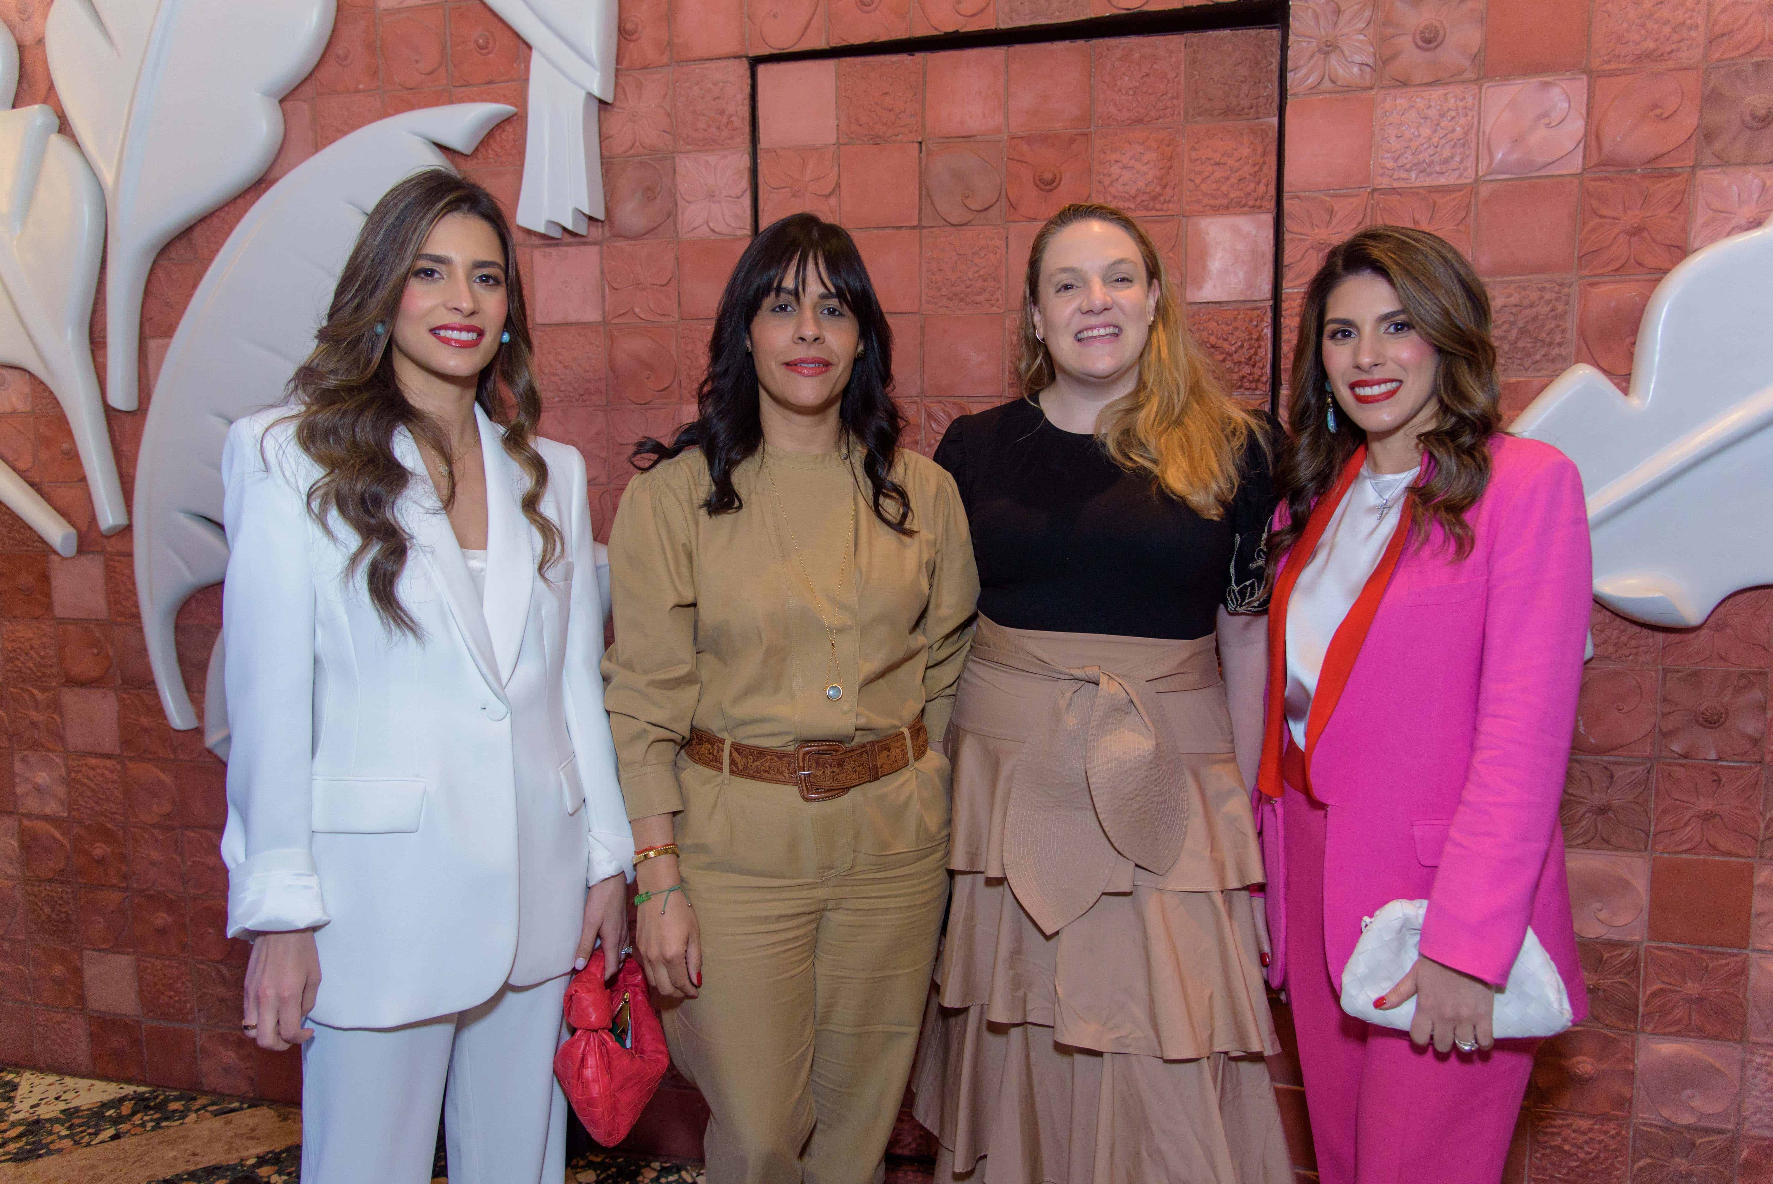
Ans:
[[[842,229],[757,236],[709,353],[610,535],[637,946],[709,1104],[709,1184],[869,1184],[936,954],[979,576],[954,480],[897,447],[892,331]]]

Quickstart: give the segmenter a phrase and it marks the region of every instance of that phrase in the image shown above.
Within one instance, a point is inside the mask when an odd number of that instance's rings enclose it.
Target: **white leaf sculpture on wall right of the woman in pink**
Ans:
[[[1631,393],[1576,365],[1512,431],[1582,470],[1594,596],[1654,626],[1697,626],[1773,583],[1773,223],[1688,255],[1644,310]]]

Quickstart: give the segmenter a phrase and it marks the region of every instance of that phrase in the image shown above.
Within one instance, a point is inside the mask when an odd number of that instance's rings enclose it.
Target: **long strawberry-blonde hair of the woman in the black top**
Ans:
[[[1200,518],[1220,519],[1238,493],[1238,461],[1259,431],[1255,417],[1225,390],[1218,365],[1195,342],[1183,317],[1177,277],[1165,275],[1158,246],[1129,214],[1097,202],[1073,202],[1046,220],[1028,248],[1028,292],[1021,305],[1021,388],[1030,395],[1058,378],[1053,354],[1034,335],[1041,303],[1041,262],[1053,236],[1078,222],[1106,222],[1138,246],[1145,277],[1158,284],[1151,337],[1138,358],[1138,385],[1096,420],[1096,438],[1115,464],[1151,477]]]

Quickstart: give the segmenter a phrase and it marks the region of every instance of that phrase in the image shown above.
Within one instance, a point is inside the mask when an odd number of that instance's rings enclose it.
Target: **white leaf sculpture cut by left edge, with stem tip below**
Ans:
[[[92,296],[105,250],[105,195],[80,149],[55,135],[55,112],[0,112],[0,363],[30,370],[55,392],[80,452],[105,534],[129,523],[105,401],[92,369]],[[0,500],[60,555],[74,528],[12,470]]]

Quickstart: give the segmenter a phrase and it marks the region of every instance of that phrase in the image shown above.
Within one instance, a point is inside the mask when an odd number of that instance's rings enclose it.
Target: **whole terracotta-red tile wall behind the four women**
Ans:
[[[46,7],[0,0],[21,44],[21,105],[55,103]],[[750,232],[746,55],[1136,7],[1158,5],[624,4],[617,103],[603,112],[608,225],[566,241],[525,234],[521,261],[546,431],[585,450],[599,523],[626,480],[626,441],[684,415],[720,284]],[[1773,211],[1773,131],[1757,97],[1773,92],[1764,4],[1291,9],[1284,303],[1296,303],[1332,241],[1369,220],[1447,234],[1493,284],[1511,408],[1573,360],[1624,381],[1654,280],[1688,250]],[[862,230],[901,328],[901,393],[920,447],[966,402],[1007,393],[1018,245],[1041,202],[1083,186],[1149,213],[1197,305],[1197,331],[1239,390],[1266,392],[1266,268],[1255,257],[1271,245],[1255,214],[1273,199],[1252,161],[1273,152],[1264,121],[1275,96],[1230,85],[1225,71],[1254,78],[1255,50],[1206,46],[1255,41],[1220,37],[1183,44],[1179,89],[1174,53],[1156,66],[1172,82],[1128,85],[1133,67],[1149,66],[1142,55],[1156,43],[1145,39],[1087,53],[1073,43],[761,71],[759,204],[766,216],[817,204]],[[1101,74],[1108,60],[1128,69]],[[342,0],[323,64],[284,103],[284,152],[268,177],[154,268],[142,326],[149,383],[207,261],[271,181],[411,106],[496,99],[521,110],[527,69],[528,50],[479,0]],[[1071,85],[1018,85],[1030,76]],[[773,103],[780,96],[793,101]],[[989,121],[970,122],[979,112]],[[514,204],[521,152],[519,115],[461,165]],[[998,191],[982,202],[988,172]],[[1004,289],[986,273],[1002,275]],[[94,344],[103,354],[103,315]],[[140,418],[110,417],[126,482]],[[0,370],[0,456],[82,528],[80,555],[60,560],[0,514],[0,1062],[293,1097],[293,1058],[257,1055],[232,1026],[245,957],[220,938],[220,766],[195,734],[165,727],[129,534],[92,530],[66,420],[16,370]],[[181,617],[191,686],[202,684],[216,626],[213,590]],[[1597,610],[1596,645],[1564,814],[1594,1021],[1543,1058],[1511,1179],[1663,1180],[1690,1170],[1769,1180],[1773,594],[1732,597],[1691,635]],[[1277,1076],[1298,1081],[1291,1058]],[[1308,1166],[1300,1094],[1282,1094]],[[686,1150],[695,1127],[691,1102],[651,1120],[660,1141]]]

